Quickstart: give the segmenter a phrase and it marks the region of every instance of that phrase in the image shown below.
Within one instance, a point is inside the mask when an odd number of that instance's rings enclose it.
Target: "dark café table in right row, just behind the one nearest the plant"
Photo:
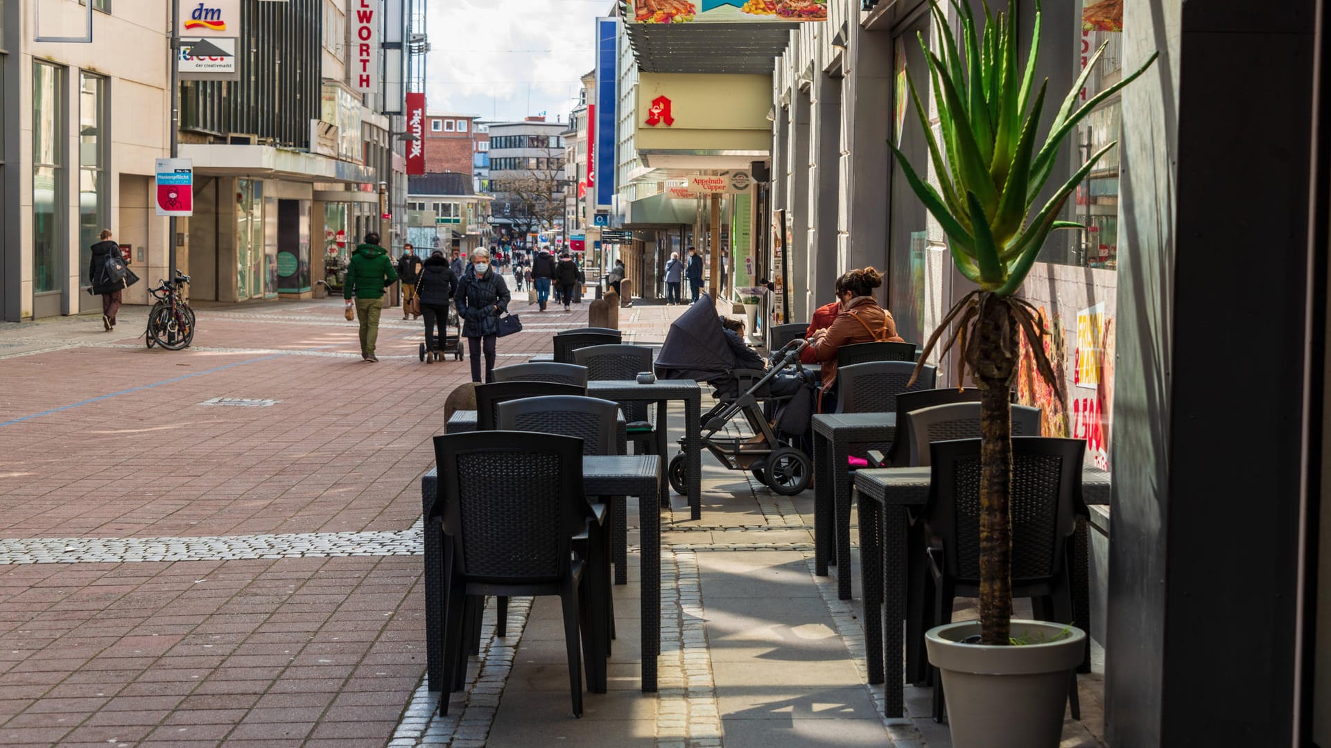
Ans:
[[[890,442],[896,413],[820,413],[813,417],[813,564],[836,563],[837,598],[851,599],[851,445]]]

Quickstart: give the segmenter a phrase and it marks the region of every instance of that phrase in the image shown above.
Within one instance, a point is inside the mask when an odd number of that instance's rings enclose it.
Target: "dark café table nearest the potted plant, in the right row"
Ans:
[[[884,713],[902,713],[902,677],[884,677],[884,652],[896,652],[902,661],[901,622],[906,604],[906,508],[929,500],[930,467],[860,468],[855,487],[860,491],[860,568],[864,576],[864,639],[869,683],[884,683]],[[1087,504],[1109,503],[1109,472],[1082,468],[1082,499]],[[1090,620],[1089,540],[1085,518],[1077,520],[1073,555],[1073,618]],[[882,618],[878,618],[880,606]],[[886,626],[884,626],[886,622]],[[1085,623],[1083,623],[1085,626]],[[878,635],[881,632],[881,636]],[[1090,638],[1087,638],[1087,657]],[[1087,659],[1089,661],[1089,659]],[[909,664],[908,664],[909,667]],[[1085,671],[1085,663],[1082,667]]]

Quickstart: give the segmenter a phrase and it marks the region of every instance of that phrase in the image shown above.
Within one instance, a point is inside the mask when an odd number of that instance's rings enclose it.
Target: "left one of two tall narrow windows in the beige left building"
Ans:
[[[64,176],[63,68],[32,64],[32,280],[35,293],[60,290]]]

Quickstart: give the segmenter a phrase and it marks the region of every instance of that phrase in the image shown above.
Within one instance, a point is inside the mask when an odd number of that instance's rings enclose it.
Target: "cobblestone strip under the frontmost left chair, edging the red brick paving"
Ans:
[[[499,639],[495,632],[495,599],[486,599],[480,624],[480,656],[475,660],[475,675],[470,675],[462,691],[453,693],[449,715],[439,713],[439,693],[431,693],[425,677],[402,712],[389,748],[415,748],[417,745],[450,745],[453,748],[483,748],[490,739],[503,695],[504,683],[512,672],[512,659],[522,642],[531,612],[531,598],[508,598],[508,631]]]

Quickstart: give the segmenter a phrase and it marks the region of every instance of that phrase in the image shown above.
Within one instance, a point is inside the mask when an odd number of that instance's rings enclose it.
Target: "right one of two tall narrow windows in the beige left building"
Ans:
[[[106,220],[106,79],[79,75],[79,285],[91,285],[88,265]]]

